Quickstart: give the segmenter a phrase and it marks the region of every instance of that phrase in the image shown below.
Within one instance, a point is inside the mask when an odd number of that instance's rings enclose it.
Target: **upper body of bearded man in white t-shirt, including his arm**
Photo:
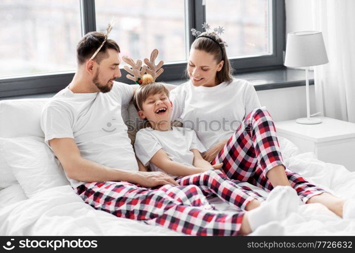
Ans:
[[[121,76],[120,49],[115,41],[109,39],[94,60],[88,60],[103,39],[104,33],[91,32],[80,40],[78,70],[72,82],[43,110],[45,141],[75,187],[109,180],[148,187],[175,184],[162,174],[138,172],[121,116],[121,104],[130,101],[138,85],[114,85]]]

